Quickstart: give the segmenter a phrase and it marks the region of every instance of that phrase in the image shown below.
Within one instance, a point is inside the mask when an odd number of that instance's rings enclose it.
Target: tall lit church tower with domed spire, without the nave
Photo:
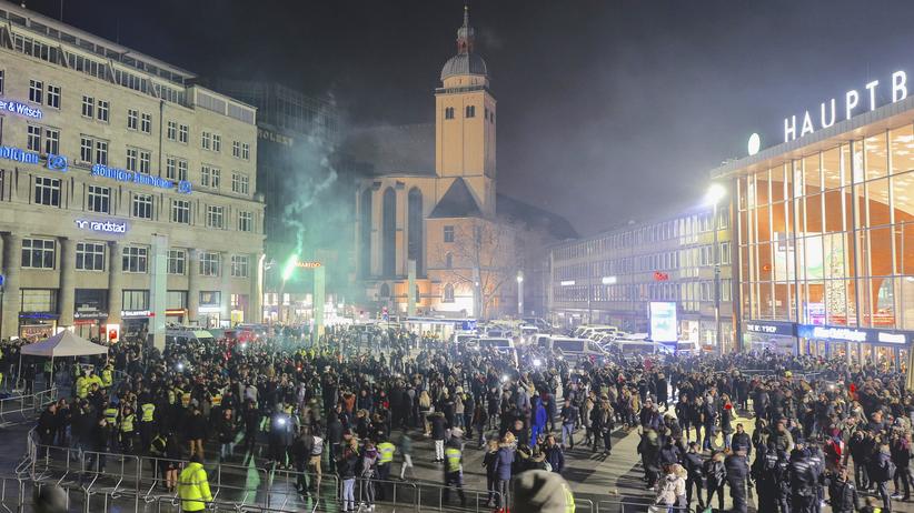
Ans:
[[[495,214],[495,97],[486,62],[474,52],[469,10],[457,30],[457,54],[441,69],[435,91],[435,171],[443,179],[438,200],[463,181],[483,215]],[[456,184],[459,187],[459,184]]]

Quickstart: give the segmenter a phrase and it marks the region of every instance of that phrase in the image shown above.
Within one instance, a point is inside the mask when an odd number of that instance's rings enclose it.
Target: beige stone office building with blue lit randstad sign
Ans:
[[[259,321],[255,109],[16,4],[0,19],[0,335],[141,333],[162,282],[169,322]]]

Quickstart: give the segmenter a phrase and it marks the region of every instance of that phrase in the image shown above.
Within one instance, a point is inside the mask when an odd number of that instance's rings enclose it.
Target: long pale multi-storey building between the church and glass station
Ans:
[[[713,209],[629,223],[549,250],[549,312],[558,324],[609,324],[649,331],[650,302],[676,305],[678,339],[716,350]],[[724,351],[733,349],[731,223],[717,220],[719,318]]]

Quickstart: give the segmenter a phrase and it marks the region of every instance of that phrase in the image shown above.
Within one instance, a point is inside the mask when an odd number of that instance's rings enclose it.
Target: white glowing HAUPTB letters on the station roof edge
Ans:
[[[904,71],[895,71],[892,73],[888,86],[892,88],[892,103],[900,102],[907,98],[907,73]],[[789,118],[784,118],[784,142],[796,140],[816,130],[826,129],[835,124],[838,114],[843,113],[844,120],[851,119],[855,113],[855,109],[861,104],[861,95],[864,97],[863,101],[868,103],[871,111],[876,110],[876,88],[878,87],[880,81],[873,80],[864,86],[866,91],[863,93],[856,89],[844,93],[843,102],[835,98],[832,98],[827,102],[822,102],[819,104],[819,115],[816,120],[818,121],[817,124],[813,121],[814,118],[816,118],[815,110],[812,115],[807,110],[801,117],[791,115]]]

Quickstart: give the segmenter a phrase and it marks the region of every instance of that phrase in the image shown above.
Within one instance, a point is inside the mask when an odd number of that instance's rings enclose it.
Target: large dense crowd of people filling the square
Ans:
[[[281,336],[190,341],[161,354],[121,342],[73,368],[73,396],[42,413],[37,435],[88,451],[97,470],[103,453],[153,456],[169,491],[182,485],[187,460],[296,471],[302,495],[336,473],[344,511],[358,502],[370,511],[391,479],[416,479],[418,443],[434,446],[445,500],[453,491],[466,502],[465,451],[480,451],[493,509],[506,509],[513,493],[515,503],[529,500],[535,494],[517,485],[537,480],[557,480],[570,502],[558,479],[566,459],[582,447],[613,457],[619,430],[639,436],[645,489],[670,512],[715,501],[723,510],[725,492],[744,512],[753,490],[762,512],[812,513],[826,503],[840,513],[891,511],[893,499],[910,499],[914,398],[888,365],[772,353],[578,361],[536,346],[518,352],[519,365],[503,352],[399,330],[340,330],[305,349]],[[198,501],[206,493],[193,491]]]

